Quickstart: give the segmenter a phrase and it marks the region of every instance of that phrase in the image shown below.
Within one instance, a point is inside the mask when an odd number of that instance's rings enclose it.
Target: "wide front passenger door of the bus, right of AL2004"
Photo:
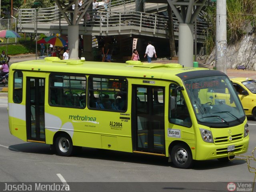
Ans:
[[[134,85],[132,100],[133,151],[165,154],[164,87]]]

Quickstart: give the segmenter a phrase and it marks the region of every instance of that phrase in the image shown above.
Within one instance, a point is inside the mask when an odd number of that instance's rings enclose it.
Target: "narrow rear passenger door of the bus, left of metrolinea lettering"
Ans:
[[[45,141],[44,93],[45,78],[27,77],[26,127],[28,141]]]

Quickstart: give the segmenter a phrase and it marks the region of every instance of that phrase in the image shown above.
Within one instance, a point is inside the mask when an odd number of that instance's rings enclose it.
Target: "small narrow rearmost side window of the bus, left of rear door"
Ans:
[[[21,103],[22,102],[22,81],[23,81],[23,74],[20,71],[14,72],[14,85],[13,85],[13,102],[14,103]]]

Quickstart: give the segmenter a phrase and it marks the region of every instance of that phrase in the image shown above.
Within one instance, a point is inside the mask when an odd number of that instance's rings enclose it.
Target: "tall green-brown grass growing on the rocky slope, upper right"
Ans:
[[[255,0],[227,0],[227,41],[237,42],[246,34],[244,27],[252,25],[256,27],[256,3]],[[216,3],[206,4],[205,20],[208,23],[206,30],[206,53],[210,54],[215,46],[216,36]]]

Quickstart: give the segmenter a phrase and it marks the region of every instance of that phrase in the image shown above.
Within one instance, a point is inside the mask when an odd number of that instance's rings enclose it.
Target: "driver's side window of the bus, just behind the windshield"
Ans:
[[[182,92],[176,90],[178,85],[170,85],[169,99],[169,121],[173,124],[178,124],[186,127],[191,127],[192,122],[188,112],[188,107],[183,98]]]

